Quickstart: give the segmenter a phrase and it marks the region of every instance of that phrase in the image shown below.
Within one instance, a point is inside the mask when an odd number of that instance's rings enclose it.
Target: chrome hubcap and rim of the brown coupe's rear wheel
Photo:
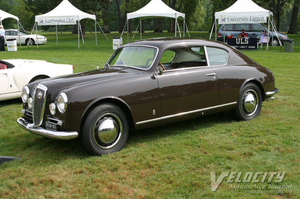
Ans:
[[[244,115],[251,116],[255,113],[258,106],[258,96],[257,93],[250,89],[245,92],[243,99],[242,99],[242,111]]]

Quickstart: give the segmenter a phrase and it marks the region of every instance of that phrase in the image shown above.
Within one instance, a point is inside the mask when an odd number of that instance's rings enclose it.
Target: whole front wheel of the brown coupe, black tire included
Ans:
[[[87,113],[80,131],[82,147],[91,155],[121,150],[128,137],[128,120],[124,111],[110,103],[101,104]]]

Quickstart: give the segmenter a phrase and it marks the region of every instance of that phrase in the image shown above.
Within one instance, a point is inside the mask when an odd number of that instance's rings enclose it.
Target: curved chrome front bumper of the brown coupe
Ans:
[[[41,127],[33,127],[32,123],[26,121],[26,119],[20,117],[17,122],[23,129],[29,131],[31,133],[41,135],[45,138],[51,138],[56,140],[68,140],[78,137],[78,132],[76,131],[65,131],[65,132],[58,132],[58,131],[50,131],[47,129],[43,129]]]

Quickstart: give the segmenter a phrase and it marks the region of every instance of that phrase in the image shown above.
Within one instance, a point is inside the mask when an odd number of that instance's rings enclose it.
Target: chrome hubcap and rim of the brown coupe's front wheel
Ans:
[[[122,136],[122,123],[113,113],[101,115],[94,125],[94,141],[102,149],[114,147]]]

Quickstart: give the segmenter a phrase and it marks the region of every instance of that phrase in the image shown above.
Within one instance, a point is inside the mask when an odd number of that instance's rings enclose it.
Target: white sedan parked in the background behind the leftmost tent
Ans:
[[[37,42],[38,44],[44,44],[47,42],[47,38],[42,35],[36,34],[28,34],[24,31],[19,30],[5,30],[5,44],[7,39],[16,39],[17,44],[19,44],[19,41],[21,41],[21,44],[26,45],[35,45]]]

